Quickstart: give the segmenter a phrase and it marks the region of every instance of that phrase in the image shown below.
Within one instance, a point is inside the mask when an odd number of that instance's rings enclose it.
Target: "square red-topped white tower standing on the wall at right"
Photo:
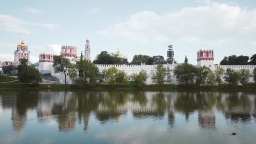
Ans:
[[[213,69],[214,67],[214,55],[213,50],[200,50],[197,51],[197,65],[199,67],[210,67]]]

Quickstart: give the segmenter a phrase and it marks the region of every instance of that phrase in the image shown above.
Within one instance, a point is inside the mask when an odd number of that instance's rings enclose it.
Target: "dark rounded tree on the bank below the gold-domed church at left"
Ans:
[[[25,65],[19,72],[19,81],[25,84],[39,85],[42,82],[40,72],[35,67]]]

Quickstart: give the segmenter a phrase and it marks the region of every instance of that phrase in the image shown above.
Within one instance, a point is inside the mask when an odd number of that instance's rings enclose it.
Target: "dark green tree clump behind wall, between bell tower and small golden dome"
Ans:
[[[94,64],[128,64],[127,59],[115,57],[115,55],[109,54],[107,51],[101,51],[93,61]]]

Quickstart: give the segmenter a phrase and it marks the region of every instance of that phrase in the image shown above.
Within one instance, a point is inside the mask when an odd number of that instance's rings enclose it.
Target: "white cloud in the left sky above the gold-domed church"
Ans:
[[[42,27],[45,29],[53,29],[57,27],[57,24],[38,24],[29,21],[23,21],[16,17],[0,14],[0,28],[10,31],[10,32],[21,32],[21,33],[30,33],[26,28],[29,26]]]

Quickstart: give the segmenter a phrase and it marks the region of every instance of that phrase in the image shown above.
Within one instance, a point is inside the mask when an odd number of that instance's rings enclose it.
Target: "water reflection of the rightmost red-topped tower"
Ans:
[[[199,110],[198,111],[198,123],[199,127],[208,130],[208,129],[214,129],[216,120],[215,120],[215,107],[213,107],[211,110]]]

